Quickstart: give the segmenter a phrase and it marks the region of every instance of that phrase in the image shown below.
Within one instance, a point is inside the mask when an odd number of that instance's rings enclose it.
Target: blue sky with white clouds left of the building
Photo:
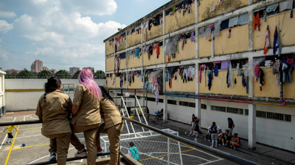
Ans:
[[[105,71],[103,40],[169,0],[0,1],[0,67],[94,67]]]

